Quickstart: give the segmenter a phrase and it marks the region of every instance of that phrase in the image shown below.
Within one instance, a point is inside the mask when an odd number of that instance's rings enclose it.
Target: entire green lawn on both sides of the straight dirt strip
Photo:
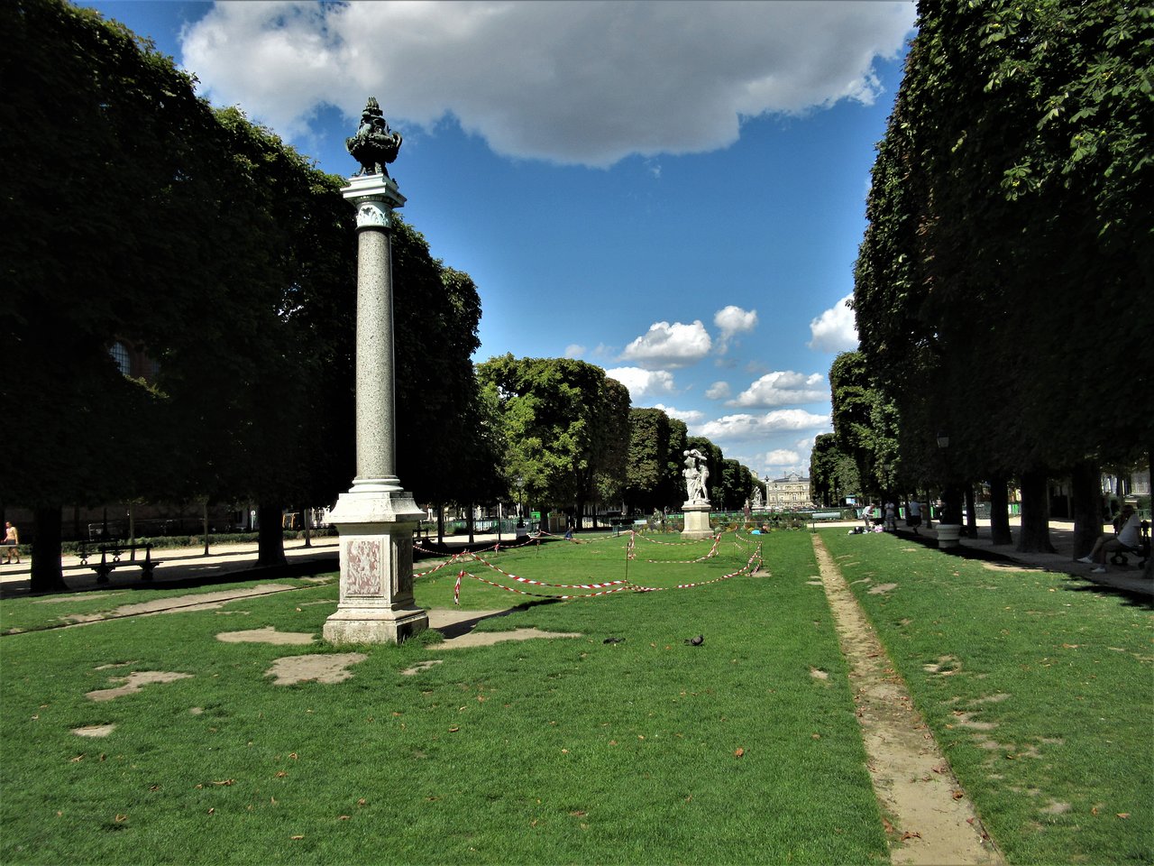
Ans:
[[[891,536],[822,537],[1010,863],[1154,863],[1148,606]],[[216,639],[319,635],[332,583],[0,636],[0,861],[886,861],[810,535],[766,537],[770,574],[728,578],[754,550],[733,535],[694,563],[647,560],[709,543],[639,540],[627,560],[625,540],[487,559],[534,581],[657,591],[556,600],[462,581],[463,607],[523,605],[478,630],[582,637],[443,651],[426,633],[355,648],[366,660],[334,685],[267,672],[349,648]],[[458,562],[420,577],[418,602],[451,605],[462,569],[537,595],[593,591]],[[882,584],[896,585],[869,591]],[[150,592],[5,600],[0,622],[43,629]],[[696,634],[704,644],[685,645]],[[192,677],[85,697],[128,671]],[[72,733],[97,724],[117,727]]]

